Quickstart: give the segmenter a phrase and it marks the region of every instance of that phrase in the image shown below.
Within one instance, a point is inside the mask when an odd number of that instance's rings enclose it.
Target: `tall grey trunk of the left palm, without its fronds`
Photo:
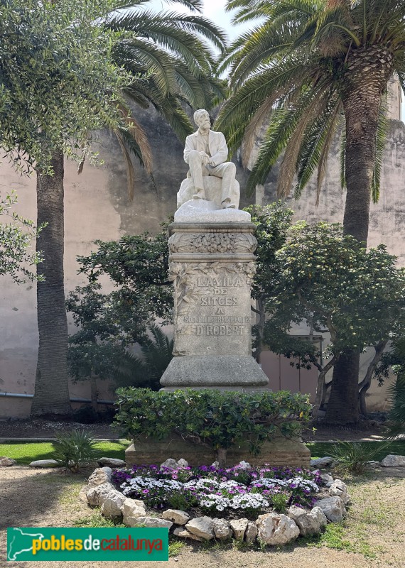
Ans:
[[[37,239],[43,252],[37,283],[39,349],[31,415],[72,413],[68,389],[68,322],[63,285],[63,153],[53,153],[53,175],[37,173],[38,226],[48,225]]]

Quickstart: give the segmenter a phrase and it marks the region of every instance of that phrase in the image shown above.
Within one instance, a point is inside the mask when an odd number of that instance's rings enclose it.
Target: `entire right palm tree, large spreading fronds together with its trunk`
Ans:
[[[345,234],[366,244],[369,205],[379,196],[384,148],[384,92],[394,72],[405,87],[405,4],[399,0],[229,0],[236,22],[261,18],[229,48],[234,94],[216,127],[230,146],[242,144],[247,164],[259,126],[264,141],[249,189],[263,183],[279,155],[278,193],[296,175],[299,197],[318,167],[318,195],[335,133],[342,138]],[[327,419],[358,420],[360,354],[349,351],[334,368]]]

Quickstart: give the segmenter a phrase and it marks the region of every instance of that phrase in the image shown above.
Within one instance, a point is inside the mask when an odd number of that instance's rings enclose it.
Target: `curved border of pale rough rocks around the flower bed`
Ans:
[[[178,465],[181,461],[168,459],[164,464],[167,466],[173,462]],[[345,504],[350,503],[345,483],[328,476],[323,483],[329,488],[329,496],[317,501],[311,510],[291,506],[286,514],[266,513],[259,515],[256,521],[246,518],[226,520],[207,515],[192,518],[185,511],[176,509],[167,509],[152,517],[147,515],[144,501],[128,498],[112,486],[110,471],[110,468],[104,467],[92,473],[87,486],[80,491],[82,501],[99,507],[104,517],[122,518],[126,526],[173,528],[173,535],[200,542],[234,538],[248,544],[257,540],[267,546],[286,545],[300,535],[319,534],[328,523],[340,523],[347,514]]]

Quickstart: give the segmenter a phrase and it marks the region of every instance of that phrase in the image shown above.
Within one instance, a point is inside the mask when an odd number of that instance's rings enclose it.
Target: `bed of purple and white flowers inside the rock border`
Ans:
[[[112,481],[124,495],[141,498],[153,508],[200,508],[215,514],[243,510],[244,515],[271,507],[313,506],[320,486],[317,471],[269,466],[134,466],[115,470]]]

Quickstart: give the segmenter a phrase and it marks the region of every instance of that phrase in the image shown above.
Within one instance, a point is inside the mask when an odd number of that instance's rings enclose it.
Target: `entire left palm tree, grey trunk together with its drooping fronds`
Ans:
[[[158,109],[180,139],[193,127],[182,104],[212,107],[216,97],[224,96],[224,87],[214,78],[210,44],[223,48],[222,33],[206,18],[195,16],[200,0],[180,0],[193,11],[191,16],[175,13],[153,14],[128,5],[114,12],[104,26],[127,33],[114,45],[114,59],[131,72],[132,79],[124,95],[132,102]],[[141,1],[133,3],[135,6]],[[129,195],[133,195],[131,156],[135,156],[151,174],[151,153],[146,133],[132,116],[126,101],[119,101],[122,126],[114,126],[126,160]],[[54,151],[53,175],[38,172],[38,224],[48,226],[38,239],[43,251],[44,282],[38,283],[39,351],[36,388],[31,415],[69,414],[68,326],[65,312],[63,277],[63,153]],[[83,163],[80,164],[80,170]]]

